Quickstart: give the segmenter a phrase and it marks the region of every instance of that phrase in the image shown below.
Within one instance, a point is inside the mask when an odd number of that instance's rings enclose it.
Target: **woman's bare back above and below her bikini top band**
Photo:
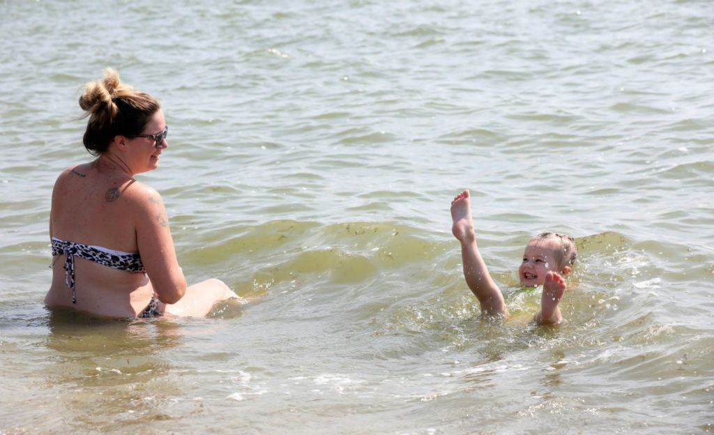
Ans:
[[[52,194],[50,236],[59,241],[97,246],[109,251],[136,253],[136,224],[133,216],[141,185],[95,161],[64,171]],[[66,281],[66,254],[55,256],[52,286],[45,302],[49,306],[73,306],[104,316],[135,316],[151,299],[153,289],[144,273],[96,263],[75,256],[74,287]],[[69,274],[69,272],[68,272]]]

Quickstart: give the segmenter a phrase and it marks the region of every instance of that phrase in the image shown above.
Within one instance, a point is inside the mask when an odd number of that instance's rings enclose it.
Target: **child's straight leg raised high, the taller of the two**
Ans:
[[[486,263],[481,258],[476,244],[476,231],[471,216],[471,196],[468,190],[458,194],[451,202],[451,232],[461,241],[461,259],[466,284],[481,304],[481,312],[490,316],[507,315],[506,301],[491,279]],[[556,307],[557,308],[557,307]]]

